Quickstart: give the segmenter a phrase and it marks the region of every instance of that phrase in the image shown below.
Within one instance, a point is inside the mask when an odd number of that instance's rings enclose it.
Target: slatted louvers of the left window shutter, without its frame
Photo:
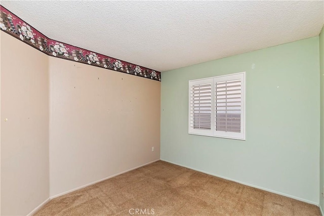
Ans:
[[[211,129],[212,83],[196,84],[190,87],[190,127]]]

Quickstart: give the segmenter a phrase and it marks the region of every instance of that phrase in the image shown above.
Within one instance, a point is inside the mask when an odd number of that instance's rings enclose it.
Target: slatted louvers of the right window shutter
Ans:
[[[241,80],[215,83],[215,130],[241,132]]]

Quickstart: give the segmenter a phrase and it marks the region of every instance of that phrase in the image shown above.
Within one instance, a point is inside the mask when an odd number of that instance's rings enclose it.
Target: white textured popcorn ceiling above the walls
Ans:
[[[158,71],[319,34],[323,1],[1,1],[46,36]]]

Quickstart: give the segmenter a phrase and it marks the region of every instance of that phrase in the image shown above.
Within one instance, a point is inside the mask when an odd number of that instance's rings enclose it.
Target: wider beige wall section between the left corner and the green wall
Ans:
[[[160,158],[160,82],[49,62],[50,196]]]

